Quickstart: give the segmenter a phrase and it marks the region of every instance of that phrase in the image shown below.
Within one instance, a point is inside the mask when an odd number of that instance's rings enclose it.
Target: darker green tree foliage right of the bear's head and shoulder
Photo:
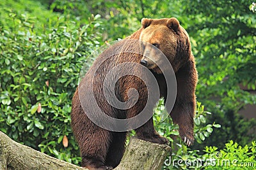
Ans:
[[[249,6],[249,1],[189,1],[184,10],[193,20],[187,31],[199,75],[196,96],[214,113],[209,121],[221,122],[204,145],[221,148],[230,139],[241,145],[256,139],[256,120],[237,114],[246,104],[256,104],[250,93],[256,84],[256,15]]]

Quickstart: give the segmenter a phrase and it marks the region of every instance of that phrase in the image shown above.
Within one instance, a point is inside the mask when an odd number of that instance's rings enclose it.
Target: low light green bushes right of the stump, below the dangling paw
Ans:
[[[154,114],[155,127],[159,134],[168,138],[172,144],[172,152],[164,161],[162,169],[255,169],[256,141],[245,146],[230,140],[223,149],[218,149],[219,143],[205,146],[204,150],[193,150],[179,138],[178,125],[173,124],[171,118],[161,121],[165,113],[163,101],[159,102]],[[205,139],[211,139],[213,128],[220,128],[220,124],[207,124],[204,106],[197,103],[195,122],[195,144]]]

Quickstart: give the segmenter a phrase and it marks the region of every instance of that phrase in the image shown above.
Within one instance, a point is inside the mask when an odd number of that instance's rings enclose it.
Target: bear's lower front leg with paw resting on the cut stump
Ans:
[[[152,143],[159,143],[159,144],[168,144],[168,139],[164,138],[163,136],[160,136],[153,124],[153,118],[150,118],[148,122],[146,122],[144,125],[139,127],[136,131],[136,136],[139,139],[142,139],[144,141],[150,141]]]

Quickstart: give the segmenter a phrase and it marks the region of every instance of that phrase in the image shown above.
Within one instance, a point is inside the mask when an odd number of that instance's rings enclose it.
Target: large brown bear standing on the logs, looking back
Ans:
[[[152,47],[148,46],[148,43],[161,50],[170,64],[172,64],[177,80],[177,96],[170,115],[173,122],[179,125],[179,134],[182,140],[187,145],[193,143],[197,71],[188,33],[180,26],[176,18],[143,18],[141,24],[142,27],[127,38],[140,39],[141,41],[138,41],[138,43],[137,41],[135,43],[132,41],[128,41],[128,43],[120,41],[101,53],[79,83],[79,87],[77,87],[72,99],[72,130],[81,151],[82,166],[88,169],[112,169],[120,163],[124,154],[126,132],[105,129],[104,124],[118,125],[115,124],[115,121],[106,122],[105,117],[103,116],[102,118],[102,115],[100,115],[100,111],[118,120],[134,118],[141,111],[148,112],[150,113],[150,118],[145,124],[138,125],[135,129],[137,138],[153,143],[168,143],[168,139],[159,136],[154,129],[152,112],[154,106],[156,106],[157,99],[160,97],[166,99],[168,90],[172,89],[167,88],[168,82],[166,82],[162,74],[163,70],[156,64],[156,61],[161,61],[161,57],[155,53],[156,50],[154,51]],[[127,48],[142,50],[143,55],[122,52]],[[106,57],[109,55],[111,57]],[[146,74],[143,69],[135,65],[134,67],[131,67],[131,65],[126,67],[125,63],[127,62],[141,64],[151,71],[159,86],[159,96],[150,100],[150,96],[155,95],[150,93],[150,91],[155,90],[150,87],[150,83],[148,85],[151,80],[145,83],[139,76],[127,74],[117,78],[118,81],[115,82],[115,92],[113,92],[112,97],[116,97],[122,103],[130,101],[130,99],[131,101],[135,100],[136,103],[125,109],[115,108],[109,104],[108,99],[104,96],[104,92],[106,92],[104,91],[104,80],[109,71],[118,66],[118,64],[123,64],[122,71],[124,72],[134,71],[134,73],[141,76]],[[168,70],[172,69],[172,67],[164,67],[164,69]],[[147,76],[145,77],[147,78]],[[107,88],[105,89],[107,91],[113,90],[108,85],[106,86]],[[136,89],[137,93],[131,94],[131,89]],[[147,103],[150,104],[145,110]],[[168,102],[165,102],[165,105],[168,104]],[[97,110],[96,106],[100,110]],[[100,120],[104,124],[95,124],[92,119]],[[124,127],[129,127],[129,125],[124,124]]]

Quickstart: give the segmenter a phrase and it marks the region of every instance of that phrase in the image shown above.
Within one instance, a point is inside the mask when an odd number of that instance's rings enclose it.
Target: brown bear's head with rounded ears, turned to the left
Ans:
[[[188,62],[192,55],[189,36],[177,18],[143,18],[141,24],[143,31],[140,34],[140,46],[143,66],[161,74],[162,71],[157,64],[161,64],[163,55],[159,54],[159,50],[170,61],[175,72]]]

